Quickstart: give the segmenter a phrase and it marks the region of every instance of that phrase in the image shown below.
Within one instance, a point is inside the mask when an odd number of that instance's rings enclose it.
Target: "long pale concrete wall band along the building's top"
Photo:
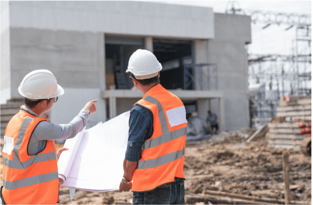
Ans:
[[[10,25],[210,39],[213,9],[134,1],[10,1]]]

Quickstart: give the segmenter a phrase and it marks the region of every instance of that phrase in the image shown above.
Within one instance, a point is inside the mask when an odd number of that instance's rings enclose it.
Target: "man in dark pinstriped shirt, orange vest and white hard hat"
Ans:
[[[187,120],[182,101],[160,85],[162,66],[148,50],[137,50],[126,72],[144,96],[132,108],[120,192],[133,204],[184,204]]]

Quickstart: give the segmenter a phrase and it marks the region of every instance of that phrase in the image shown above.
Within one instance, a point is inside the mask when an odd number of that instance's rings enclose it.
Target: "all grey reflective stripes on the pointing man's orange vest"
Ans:
[[[19,133],[18,133],[18,139],[14,145],[13,148],[13,160],[10,160],[8,158],[5,158],[3,156],[3,165],[7,166],[8,168],[12,169],[27,169],[29,166],[31,166],[34,163],[38,162],[44,162],[44,161],[49,161],[49,160],[56,160],[56,154],[55,150],[53,147],[53,152],[48,152],[48,153],[42,153],[42,154],[37,154],[33,155],[31,158],[28,160],[21,162],[19,159],[18,151],[19,148],[22,144],[23,138],[25,131],[29,125],[29,123],[34,119],[34,117],[26,117],[23,120],[23,123],[20,127]],[[30,185],[38,184],[38,183],[43,183],[47,181],[51,181],[54,179],[59,179],[58,172],[51,172],[47,174],[42,174],[42,175],[37,175],[37,176],[31,176],[23,179],[19,179],[16,181],[6,181],[3,179],[3,187],[12,190],[12,189],[17,189],[21,187],[27,187]]]

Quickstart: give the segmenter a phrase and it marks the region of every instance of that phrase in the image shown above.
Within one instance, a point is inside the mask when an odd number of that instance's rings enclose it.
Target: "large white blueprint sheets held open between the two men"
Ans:
[[[58,168],[60,186],[91,192],[116,190],[124,174],[130,112],[67,139]]]

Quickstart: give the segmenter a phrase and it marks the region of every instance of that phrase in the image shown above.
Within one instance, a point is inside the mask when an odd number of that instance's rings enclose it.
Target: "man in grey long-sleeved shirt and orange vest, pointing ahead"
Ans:
[[[48,70],[28,73],[18,92],[25,97],[19,113],[4,133],[2,204],[56,204],[59,202],[57,160],[54,140],[73,138],[95,113],[88,102],[69,124],[49,123],[40,115],[48,112],[64,90]]]

